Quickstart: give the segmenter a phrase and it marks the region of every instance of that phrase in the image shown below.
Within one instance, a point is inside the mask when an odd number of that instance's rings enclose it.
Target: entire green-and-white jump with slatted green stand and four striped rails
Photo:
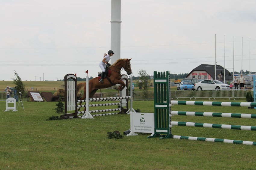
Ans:
[[[154,72],[154,108],[155,108],[155,132],[151,137],[160,137],[160,139],[188,139],[209,142],[223,142],[244,145],[256,145],[256,142],[240,141],[230,139],[203,138],[193,136],[173,135],[171,128],[173,126],[189,126],[189,127],[208,127],[233,130],[251,130],[256,131],[256,126],[229,125],[229,124],[209,124],[195,122],[171,121],[174,115],[183,116],[206,116],[206,117],[230,117],[230,118],[256,118],[256,114],[244,113],[221,113],[221,112],[186,112],[171,111],[173,105],[194,105],[194,106],[236,106],[236,107],[256,107],[253,102],[204,102],[204,101],[177,101],[171,100],[170,96],[170,72],[165,73]]]

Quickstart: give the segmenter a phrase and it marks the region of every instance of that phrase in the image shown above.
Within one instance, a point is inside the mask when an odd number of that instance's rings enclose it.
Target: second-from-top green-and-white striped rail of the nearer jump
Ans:
[[[184,111],[171,111],[171,115],[181,116],[206,116],[206,117],[226,117],[226,118],[256,118],[256,114],[246,113],[218,113],[218,112],[184,112]]]

